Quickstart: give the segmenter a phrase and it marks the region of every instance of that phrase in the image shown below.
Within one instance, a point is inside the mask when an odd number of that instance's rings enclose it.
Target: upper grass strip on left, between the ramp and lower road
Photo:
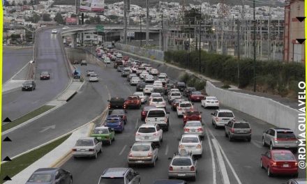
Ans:
[[[2,125],[2,131],[6,131],[17,125],[20,125],[21,123],[24,123],[25,121],[28,121],[29,119],[34,118],[35,116],[38,116],[40,114],[43,114],[44,112],[47,112],[47,110],[50,110],[53,107],[55,106],[54,105],[44,105],[42,107],[39,107],[38,109],[35,109],[33,112],[29,112],[28,114],[21,116],[20,118],[17,118],[12,122]]]

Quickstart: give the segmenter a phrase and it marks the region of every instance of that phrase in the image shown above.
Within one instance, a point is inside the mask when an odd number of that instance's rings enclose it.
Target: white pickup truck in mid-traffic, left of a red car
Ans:
[[[170,126],[168,114],[170,114],[170,112],[166,112],[163,108],[149,109],[147,117],[145,118],[145,123],[158,124],[163,131],[168,131]]]

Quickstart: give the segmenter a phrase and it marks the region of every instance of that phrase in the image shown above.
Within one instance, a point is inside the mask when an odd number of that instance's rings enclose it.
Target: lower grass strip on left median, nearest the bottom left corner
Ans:
[[[2,180],[6,176],[12,178],[16,174],[20,173],[20,171],[29,167],[29,165],[33,164],[33,162],[36,162],[36,160],[42,158],[44,155],[59,146],[63,141],[70,137],[70,135],[71,134],[66,135],[65,137],[53,141],[50,144],[47,144],[34,151],[21,155],[20,157],[17,157],[10,162],[5,162],[4,164],[1,164],[0,179]]]

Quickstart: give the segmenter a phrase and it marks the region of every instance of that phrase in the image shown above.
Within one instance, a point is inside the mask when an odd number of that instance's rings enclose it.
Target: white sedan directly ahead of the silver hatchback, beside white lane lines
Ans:
[[[185,149],[192,155],[199,155],[202,157],[202,141],[199,135],[182,135],[179,141],[178,152]]]

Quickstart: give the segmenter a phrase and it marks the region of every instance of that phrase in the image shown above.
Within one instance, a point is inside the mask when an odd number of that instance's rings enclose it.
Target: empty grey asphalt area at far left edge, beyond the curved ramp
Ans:
[[[13,77],[22,67],[32,59],[32,48],[3,49],[2,84]]]

